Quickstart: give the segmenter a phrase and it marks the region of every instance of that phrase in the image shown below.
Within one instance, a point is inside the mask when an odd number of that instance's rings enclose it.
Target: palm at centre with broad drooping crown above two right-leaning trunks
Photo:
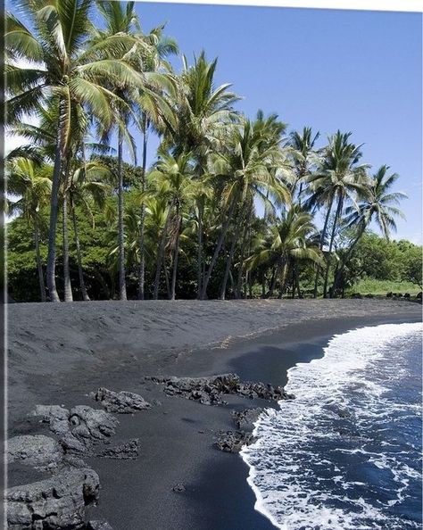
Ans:
[[[269,194],[278,203],[287,203],[291,199],[286,185],[276,174],[278,164],[282,161],[279,143],[284,126],[282,124],[275,128],[275,120],[275,117],[270,118],[268,128],[263,125],[260,113],[255,122],[245,120],[241,127],[230,129],[226,151],[213,155],[212,171],[222,182],[220,192],[222,221],[220,236],[204,277],[202,299],[206,295],[211,272],[232,221],[236,227],[233,241],[239,238],[245,206],[250,205],[251,208],[254,197],[261,198],[263,203],[269,205],[271,204]],[[235,244],[231,244],[227,269],[228,266],[230,267],[234,251]],[[225,277],[228,279],[228,273]],[[221,292],[226,289],[225,277]]]

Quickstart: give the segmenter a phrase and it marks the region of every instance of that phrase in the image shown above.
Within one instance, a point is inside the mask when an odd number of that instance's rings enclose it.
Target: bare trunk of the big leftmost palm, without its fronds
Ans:
[[[55,280],[55,259],[56,259],[56,231],[57,231],[57,213],[59,204],[59,186],[62,172],[62,156],[64,147],[64,128],[66,120],[66,108],[64,102],[61,100],[59,104],[59,130],[57,135],[57,142],[54,152],[54,168],[52,193],[50,195],[50,226],[48,230],[48,254],[47,254],[47,269],[46,280],[48,288],[48,296],[50,302],[60,302],[59,294],[57,294],[56,280]]]

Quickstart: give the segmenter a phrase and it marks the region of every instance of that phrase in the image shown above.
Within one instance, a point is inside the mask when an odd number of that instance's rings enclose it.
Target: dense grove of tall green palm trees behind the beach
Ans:
[[[202,53],[190,65],[183,57],[182,71],[174,71],[177,44],[163,26],[144,33],[133,2],[20,6],[29,25],[13,13],[6,20],[6,120],[8,133],[28,144],[7,157],[9,213],[25,216],[33,230],[41,300],[60,301],[60,241],[63,298],[73,299],[70,219],[79,292],[89,300],[79,216],[94,210],[116,235],[110,255],[120,300],[127,299],[128,269],[136,271],[139,299],[183,296],[181,256],[195,261],[198,299],[253,296],[257,286],[261,296],[282,296],[288,285],[301,296],[304,275],[314,296],[335,295],[369,224],[376,220],[387,237],[402,215],[403,195],[390,191],[398,176],[387,166],[371,176],[351,133],[337,131],[317,148],[311,128],[286,135],[276,114],[250,120],[236,112],[231,86],[215,85],[217,60]],[[148,168],[152,134],[160,147]],[[125,150],[135,181],[128,182]],[[350,236],[344,248],[341,232]]]

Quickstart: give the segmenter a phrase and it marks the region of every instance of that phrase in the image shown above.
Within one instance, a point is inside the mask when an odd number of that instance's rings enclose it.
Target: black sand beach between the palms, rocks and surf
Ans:
[[[334,334],[420,319],[419,304],[376,300],[11,305],[9,436],[47,434],[27,420],[36,404],[96,407],[87,394],[100,386],[140,393],[161,405],[119,415],[113,436],[139,438],[138,459],[86,459],[101,484],[89,517],[114,530],[268,529],[253,509],[245,463],[213,442],[218,431],[234,430],[231,410],[277,403],[229,395],[228,405],[205,406],[169,397],[144,377],[235,372],[285,385],[286,369],[321,355]],[[13,465],[9,481],[38,475]],[[185,491],[174,492],[176,484]]]

